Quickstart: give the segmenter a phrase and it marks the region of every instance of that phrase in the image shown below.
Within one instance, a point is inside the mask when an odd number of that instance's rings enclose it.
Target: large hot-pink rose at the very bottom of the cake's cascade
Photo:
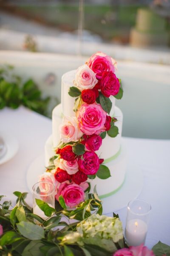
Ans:
[[[84,201],[85,198],[85,192],[77,184],[71,184],[66,186],[62,190],[61,195],[64,198],[65,204],[68,205],[69,207],[76,206],[77,204]]]

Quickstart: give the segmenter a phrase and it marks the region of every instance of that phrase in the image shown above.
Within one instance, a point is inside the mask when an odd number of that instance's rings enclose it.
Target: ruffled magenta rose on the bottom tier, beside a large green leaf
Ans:
[[[82,155],[82,159],[79,158],[79,170],[87,175],[94,175],[99,170],[99,157],[93,151],[85,151]]]

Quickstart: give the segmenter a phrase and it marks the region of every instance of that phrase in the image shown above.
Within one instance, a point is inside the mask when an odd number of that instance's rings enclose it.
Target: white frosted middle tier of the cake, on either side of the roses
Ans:
[[[115,125],[119,128],[119,134],[111,138],[106,135],[105,139],[102,140],[102,145],[98,151],[96,151],[97,155],[100,158],[104,158],[105,160],[114,157],[115,154],[119,152],[120,149],[120,139],[122,135],[122,121],[123,114],[122,111],[115,106],[115,111],[113,114],[114,117],[117,118],[117,122]],[[113,117],[112,116],[112,117]],[[53,148],[57,147],[60,142],[60,131],[59,127],[62,124],[62,111],[61,104],[57,105],[52,112],[52,145]],[[52,149],[52,148],[51,148]]]

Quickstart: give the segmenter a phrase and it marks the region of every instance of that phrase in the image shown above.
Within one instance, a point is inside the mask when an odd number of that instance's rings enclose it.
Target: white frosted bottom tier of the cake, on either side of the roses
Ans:
[[[54,155],[52,148],[52,136],[50,136],[45,143],[45,166],[48,166],[50,157]],[[97,193],[101,199],[113,195],[124,183],[127,164],[126,150],[123,140],[121,140],[119,152],[114,155],[108,163],[103,164],[108,166],[110,169],[111,177],[105,180],[99,179],[98,177],[96,177],[94,180],[88,180],[88,182],[91,184],[90,192],[93,193],[94,186],[96,185]]]

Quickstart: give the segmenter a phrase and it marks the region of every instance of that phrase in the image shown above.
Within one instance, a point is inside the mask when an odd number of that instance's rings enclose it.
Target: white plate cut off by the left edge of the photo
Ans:
[[[3,164],[9,161],[12,157],[14,157],[15,154],[17,154],[19,145],[17,139],[9,133],[0,131],[0,137],[3,138],[7,147],[6,153],[3,155],[3,157],[0,158],[0,164]]]

